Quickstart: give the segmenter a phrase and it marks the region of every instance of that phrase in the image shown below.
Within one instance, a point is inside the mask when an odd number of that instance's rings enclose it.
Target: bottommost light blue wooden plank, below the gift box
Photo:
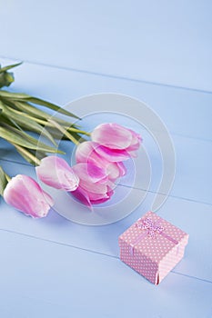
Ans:
[[[209,318],[212,284],[169,273],[155,286],[116,258],[0,231],[5,318]]]

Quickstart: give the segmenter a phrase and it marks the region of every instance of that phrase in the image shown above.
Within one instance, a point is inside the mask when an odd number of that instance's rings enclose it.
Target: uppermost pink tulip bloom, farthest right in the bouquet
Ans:
[[[92,141],[109,149],[126,151],[129,156],[136,156],[141,144],[141,136],[120,124],[99,124],[91,134]]]

